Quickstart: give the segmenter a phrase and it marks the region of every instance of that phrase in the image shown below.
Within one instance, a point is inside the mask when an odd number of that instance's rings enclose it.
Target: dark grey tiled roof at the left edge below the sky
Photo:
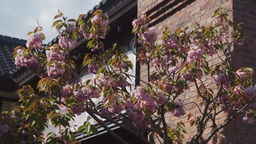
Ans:
[[[26,40],[0,34],[0,76],[10,76],[19,68],[13,59],[13,50],[18,45],[25,46]]]

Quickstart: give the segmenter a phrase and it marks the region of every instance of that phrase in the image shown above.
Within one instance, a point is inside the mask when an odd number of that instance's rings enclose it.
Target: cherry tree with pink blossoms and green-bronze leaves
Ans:
[[[256,96],[253,69],[234,71],[230,65],[231,48],[243,45],[245,34],[241,23],[235,26],[229,20],[226,9],[215,11],[210,26],[195,23],[175,32],[165,27],[161,38],[154,27],[149,27],[149,17],[140,15],[135,19],[132,33],[140,45],[137,61],[148,65],[148,81],[127,74],[132,62],[118,50],[117,44],[104,47],[102,40],[110,27],[107,15],[101,10],[91,17],[79,15],[77,20],[67,19],[59,11],[54,19],[57,19],[53,27],[57,29],[58,44],[42,51],[45,36],[42,27],[37,27],[28,33],[26,47],[18,46],[14,51],[15,64],[34,70],[41,79],[36,91],[31,86],[22,86],[18,103],[9,112],[1,112],[2,141],[79,143],[75,134],[97,133],[96,127],[100,125],[114,139],[127,143],[107,127],[103,121],[106,119],[144,143],[207,143],[238,113],[245,113],[244,122],[254,122],[254,110],[247,109]],[[85,53],[83,67],[95,74],[95,79],[88,81],[80,80],[74,59],[69,56],[82,36],[87,40],[86,49],[91,51]],[[156,43],[159,39],[160,44]],[[220,62],[211,65],[212,56],[217,56]],[[149,68],[150,63],[154,69]],[[72,77],[80,81],[71,83]],[[132,93],[131,77],[143,83]],[[182,95],[190,86],[196,87],[197,100],[184,103]],[[100,102],[96,103],[95,99]],[[199,115],[186,112],[185,106],[189,104],[196,105]],[[58,112],[63,106],[67,107],[66,111]],[[89,114],[82,119],[84,125],[79,128],[70,125],[72,119],[84,112]],[[223,112],[226,120],[217,123],[216,117]],[[187,118],[191,126],[196,126],[196,134],[184,141],[187,133],[184,123],[180,121],[171,127],[167,124],[167,113],[171,117]],[[202,137],[208,122],[212,123],[211,133]],[[43,134],[49,124],[59,128],[59,133]]]

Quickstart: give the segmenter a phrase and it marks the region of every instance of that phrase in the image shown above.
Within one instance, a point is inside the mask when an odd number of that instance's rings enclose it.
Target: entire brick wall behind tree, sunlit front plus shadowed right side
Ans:
[[[158,43],[161,43],[161,32],[164,26],[170,27],[174,31],[177,27],[190,26],[194,22],[199,22],[201,25],[209,25],[212,22],[211,16],[214,10],[220,6],[226,7],[229,10],[229,15],[232,21],[245,22],[243,29],[245,29],[247,40],[246,46],[234,47],[232,55],[232,64],[234,69],[238,67],[253,67],[255,70],[256,63],[256,1],[254,0],[183,0],[183,1],[165,1],[165,0],[138,0],[138,14],[147,14],[152,19],[152,26],[158,29]],[[210,65],[215,65],[219,62],[217,56],[208,59]],[[154,71],[153,64],[149,65],[150,73]],[[147,65],[141,65],[140,77],[143,81],[148,81]],[[203,78],[205,82],[211,82],[207,77]],[[144,85],[141,83],[141,85]],[[212,86],[213,87],[213,86]],[[190,86],[187,92],[182,95],[184,103],[190,101],[197,101],[195,86]],[[193,113],[199,115],[199,110],[195,104],[187,105],[187,114]],[[217,117],[217,124],[225,121],[225,113]],[[190,127],[187,122],[187,117],[180,119],[166,115],[168,125],[174,126],[177,122],[183,121],[185,123],[186,131],[185,139],[191,139],[196,133],[196,127]],[[214,136],[209,143],[256,143],[256,129],[255,124],[248,125],[241,121],[242,115],[236,121],[230,123],[226,128],[222,129]],[[211,123],[207,123],[204,136],[211,132]]]

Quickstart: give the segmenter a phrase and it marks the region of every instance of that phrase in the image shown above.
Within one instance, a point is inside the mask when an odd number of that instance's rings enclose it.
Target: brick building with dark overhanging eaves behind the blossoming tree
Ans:
[[[108,14],[112,31],[106,38],[106,46],[111,45],[113,42],[129,45],[129,42],[133,38],[133,35],[131,34],[131,22],[137,15],[141,13],[147,14],[150,17],[152,20],[150,25],[158,29],[158,38],[160,39],[162,28],[164,26],[168,26],[171,28],[171,31],[174,31],[174,29],[177,27],[190,26],[194,22],[199,22],[201,25],[210,24],[212,22],[211,16],[213,15],[214,10],[220,6],[228,8],[232,21],[235,23],[244,22],[242,28],[246,33],[246,42],[245,46],[234,47],[231,62],[233,68],[236,70],[239,67],[253,67],[254,70],[256,70],[256,64],[254,64],[256,61],[256,58],[254,57],[254,54],[256,54],[255,0],[104,0],[90,10],[88,15],[92,14],[96,9],[102,9],[104,13]],[[57,39],[54,39],[48,45],[54,43],[57,43]],[[160,44],[161,41],[158,40],[158,43]],[[84,38],[81,38],[78,40],[75,48],[71,51],[71,56],[77,60],[78,66],[80,66],[79,64],[81,64],[83,61],[83,53],[86,52],[84,45],[86,45],[86,41]],[[219,62],[219,59],[213,56],[209,59],[209,61],[211,65],[214,65]],[[152,73],[155,69],[153,68],[152,64],[149,66],[150,72]],[[85,71],[87,71],[87,69],[78,69],[79,76],[86,77],[88,73],[85,73]],[[136,75],[137,77],[141,77],[143,81],[148,81],[147,65],[140,66],[139,63],[137,63]],[[27,82],[32,78],[30,76],[26,76],[22,77],[22,80],[23,79]],[[135,83],[136,85],[143,85],[143,83],[139,83],[139,81],[136,81]],[[195,91],[196,88],[191,85],[187,93],[182,96],[184,103],[197,101]],[[16,101],[16,99],[14,101]],[[194,104],[188,105],[186,110],[187,113],[199,113],[199,110]],[[209,143],[256,143],[255,123],[243,123],[242,116],[243,115],[238,116],[234,122],[230,123],[228,127],[221,130]],[[168,125],[171,126],[174,126],[179,121],[183,121],[185,123],[185,130],[188,132],[188,134],[185,134],[186,140],[191,139],[191,136],[195,134],[196,127],[190,127],[190,124],[187,122],[187,117],[174,119],[168,115],[168,113],[166,117]],[[223,123],[225,118],[226,117],[223,113],[222,116],[218,117],[217,123]],[[135,136],[125,133],[125,131],[114,124],[109,123],[108,127],[123,137],[123,139],[128,140],[130,143],[141,143],[135,139]],[[207,123],[204,136],[211,132],[210,127],[211,123]],[[110,137],[106,130],[103,128],[98,128],[98,130],[100,132],[98,134],[90,136],[77,135],[77,139],[82,140],[84,143],[99,143],[102,141],[105,143],[117,143],[113,142],[114,139]]]

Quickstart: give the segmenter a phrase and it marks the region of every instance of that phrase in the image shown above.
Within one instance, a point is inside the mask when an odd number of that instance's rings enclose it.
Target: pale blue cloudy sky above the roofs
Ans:
[[[3,0],[0,9],[0,34],[27,39],[27,32],[39,25],[48,43],[56,37],[53,17],[59,9],[68,19],[77,19],[87,13],[100,0]]]

